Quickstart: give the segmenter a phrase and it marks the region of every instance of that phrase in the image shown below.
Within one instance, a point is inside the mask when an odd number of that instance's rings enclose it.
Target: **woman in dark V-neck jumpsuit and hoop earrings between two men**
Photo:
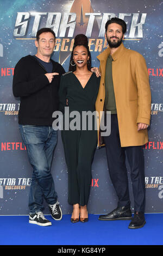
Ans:
[[[80,40],[79,40],[80,39]],[[81,40],[82,39],[82,40]],[[86,42],[85,42],[86,40]],[[77,35],[74,40],[70,68],[73,64],[74,72],[68,72],[61,77],[60,109],[64,112],[66,106],[69,112],[78,111],[80,118],[77,129],[62,130],[61,137],[64,144],[65,159],[68,168],[68,203],[73,205],[71,222],[86,222],[88,214],[86,205],[89,200],[91,186],[91,163],[97,145],[97,129],[95,130],[96,115],[91,115],[92,129],[82,125],[83,111],[96,111],[95,102],[99,89],[100,78],[91,69],[91,55],[85,35]],[[76,65],[75,65],[76,64]],[[73,118],[70,118],[70,124]]]

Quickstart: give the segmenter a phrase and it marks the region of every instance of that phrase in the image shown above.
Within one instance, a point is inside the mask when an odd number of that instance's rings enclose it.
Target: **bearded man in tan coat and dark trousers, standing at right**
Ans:
[[[101,84],[96,110],[111,112],[111,133],[104,137],[111,181],[118,196],[117,208],[99,220],[131,220],[129,228],[145,225],[145,174],[142,145],[148,142],[151,117],[151,90],[145,59],[124,47],[126,23],[118,18],[106,22],[109,47],[100,60]],[[99,124],[100,124],[99,119]],[[98,145],[99,144],[98,134]],[[131,215],[126,156],[131,169],[134,217]]]

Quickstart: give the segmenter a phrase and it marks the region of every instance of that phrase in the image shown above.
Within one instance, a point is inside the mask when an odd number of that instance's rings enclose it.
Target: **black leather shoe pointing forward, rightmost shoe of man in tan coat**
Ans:
[[[146,224],[146,220],[143,212],[135,212],[134,217],[131,218],[131,222],[128,228],[131,228],[131,229],[142,228],[145,224]]]

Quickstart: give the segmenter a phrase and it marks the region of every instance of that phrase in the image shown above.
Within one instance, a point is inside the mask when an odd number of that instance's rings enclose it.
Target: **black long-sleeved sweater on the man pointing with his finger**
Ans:
[[[18,123],[22,125],[52,125],[52,114],[58,110],[58,89],[64,68],[51,59],[54,76],[51,83],[45,76],[47,71],[34,56],[21,58],[15,66],[13,93],[20,97]]]

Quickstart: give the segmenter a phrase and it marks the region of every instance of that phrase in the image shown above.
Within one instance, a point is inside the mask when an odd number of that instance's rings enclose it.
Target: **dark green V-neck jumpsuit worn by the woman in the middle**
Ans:
[[[80,130],[62,130],[61,137],[64,144],[65,159],[68,168],[68,203],[86,205],[89,200],[91,186],[91,163],[97,145],[96,117],[93,119],[93,129],[86,126],[82,130],[83,111],[95,111],[100,78],[92,73],[85,88],[73,72],[61,77],[59,99],[60,110],[69,107],[69,112],[80,113]],[[70,122],[74,118],[70,118]],[[78,125],[77,125],[78,127]]]

